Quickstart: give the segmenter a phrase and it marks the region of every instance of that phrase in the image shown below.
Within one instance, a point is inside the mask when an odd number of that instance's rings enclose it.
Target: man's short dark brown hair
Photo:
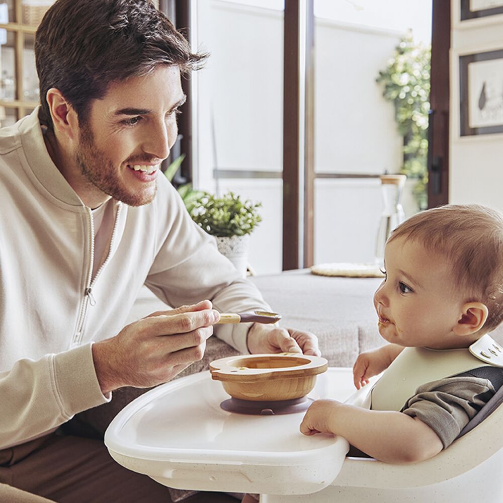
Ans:
[[[57,0],[35,36],[42,118],[53,128],[47,91],[57,88],[87,121],[91,100],[113,81],[146,75],[157,65],[183,73],[201,66],[184,36],[150,0]]]

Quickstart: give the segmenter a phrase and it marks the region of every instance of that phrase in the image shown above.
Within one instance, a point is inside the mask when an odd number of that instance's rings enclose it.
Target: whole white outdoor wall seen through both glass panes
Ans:
[[[282,171],[283,12],[198,0],[198,45],[212,53],[198,72],[196,185],[262,201],[251,235],[259,274],[281,271],[281,180],[213,179],[213,169]],[[405,28],[405,27],[404,27]],[[396,173],[401,137],[375,79],[402,32],[316,19],[315,170]],[[315,261],[371,261],[382,210],[377,180],[315,184]],[[410,192],[407,214],[415,211]]]

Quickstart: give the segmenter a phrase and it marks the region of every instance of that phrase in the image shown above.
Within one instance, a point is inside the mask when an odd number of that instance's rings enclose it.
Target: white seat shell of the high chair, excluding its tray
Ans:
[[[363,389],[368,394],[370,386]],[[364,401],[364,395],[355,395],[347,401],[355,404]],[[324,489],[308,496],[263,495],[261,502],[501,503],[502,447],[503,403],[500,403],[473,430],[429,460],[394,465],[373,458],[347,457],[338,476]]]

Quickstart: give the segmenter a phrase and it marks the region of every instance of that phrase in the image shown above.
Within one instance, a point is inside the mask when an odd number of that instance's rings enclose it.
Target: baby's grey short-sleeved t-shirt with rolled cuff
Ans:
[[[502,384],[503,369],[480,367],[423,384],[401,412],[426,423],[445,449]]]

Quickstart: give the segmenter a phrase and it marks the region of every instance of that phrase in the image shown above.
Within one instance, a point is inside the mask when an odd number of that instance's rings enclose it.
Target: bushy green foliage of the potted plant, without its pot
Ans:
[[[217,237],[243,236],[251,233],[262,221],[257,209],[262,203],[243,201],[229,191],[222,197],[205,193],[191,210],[192,219],[208,234]]]

